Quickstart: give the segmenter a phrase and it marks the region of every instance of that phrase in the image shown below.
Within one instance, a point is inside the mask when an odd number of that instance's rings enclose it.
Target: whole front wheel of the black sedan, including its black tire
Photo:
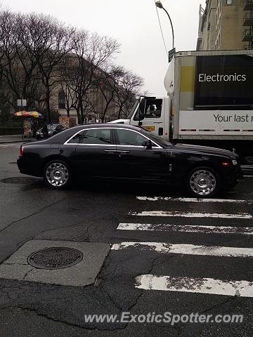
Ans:
[[[218,173],[207,166],[197,167],[187,179],[188,190],[197,198],[214,197],[220,189]]]

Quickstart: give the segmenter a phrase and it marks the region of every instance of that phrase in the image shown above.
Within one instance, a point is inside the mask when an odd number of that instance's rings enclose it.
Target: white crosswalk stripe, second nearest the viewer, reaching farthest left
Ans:
[[[112,251],[127,248],[140,248],[148,251],[157,251],[166,254],[185,254],[199,256],[223,256],[231,258],[252,258],[252,248],[223,247],[223,246],[196,246],[194,244],[169,244],[164,242],[121,242],[113,244]]]

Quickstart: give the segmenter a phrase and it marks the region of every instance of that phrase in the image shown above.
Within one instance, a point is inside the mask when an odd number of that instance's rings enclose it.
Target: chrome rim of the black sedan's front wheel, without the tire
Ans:
[[[197,195],[207,196],[214,192],[216,188],[216,178],[214,174],[205,169],[200,169],[190,176],[190,188]]]

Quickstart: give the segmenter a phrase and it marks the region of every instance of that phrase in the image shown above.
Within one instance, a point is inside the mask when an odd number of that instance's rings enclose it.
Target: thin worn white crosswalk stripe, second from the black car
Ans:
[[[249,213],[190,213],[179,211],[142,211],[142,212],[129,212],[129,216],[166,216],[177,218],[222,218],[222,219],[252,219]]]

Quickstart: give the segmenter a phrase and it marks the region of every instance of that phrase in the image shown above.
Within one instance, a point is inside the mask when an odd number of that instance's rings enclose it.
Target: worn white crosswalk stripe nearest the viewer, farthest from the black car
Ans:
[[[136,288],[144,290],[180,291],[185,293],[209,293],[222,296],[253,297],[253,282],[222,281],[211,278],[171,277],[139,275]]]

